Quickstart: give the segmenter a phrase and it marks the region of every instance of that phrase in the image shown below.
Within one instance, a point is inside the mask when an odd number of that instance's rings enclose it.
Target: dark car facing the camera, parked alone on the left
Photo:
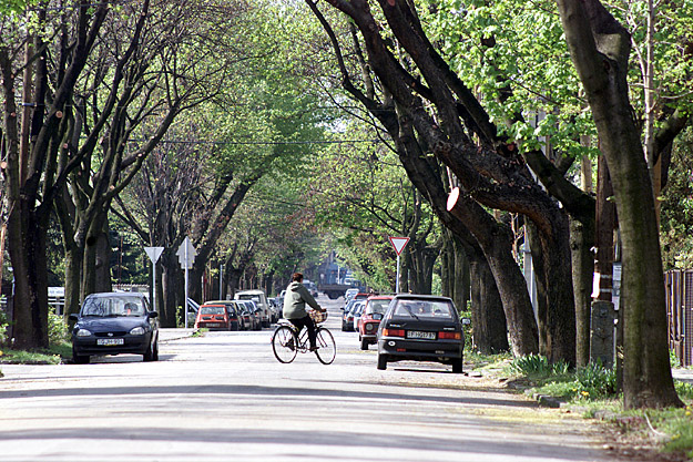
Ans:
[[[159,319],[140,292],[100,292],[84,298],[80,312],[70,315],[72,359],[78,365],[98,355],[142,355],[159,360]]]

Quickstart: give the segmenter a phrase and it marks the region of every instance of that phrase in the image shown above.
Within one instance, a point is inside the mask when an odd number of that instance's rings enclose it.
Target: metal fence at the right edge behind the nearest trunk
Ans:
[[[669,348],[681,366],[693,366],[693,270],[671,270],[666,283]]]

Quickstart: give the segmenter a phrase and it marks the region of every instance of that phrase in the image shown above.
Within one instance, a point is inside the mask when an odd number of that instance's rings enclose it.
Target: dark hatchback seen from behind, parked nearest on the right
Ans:
[[[450,298],[397,295],[378,328],[378,369],[395,361],[434,361],[461,373],[463,347],[462,325]]]

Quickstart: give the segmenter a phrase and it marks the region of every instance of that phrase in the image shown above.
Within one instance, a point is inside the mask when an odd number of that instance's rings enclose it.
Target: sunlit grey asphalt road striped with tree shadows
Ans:
[[[186,337],[159,362],[3,365],[0,461],[611,461],[601,428],[438,365],[391,363],[326,325],[330,366],[272,353],[272,329]]]

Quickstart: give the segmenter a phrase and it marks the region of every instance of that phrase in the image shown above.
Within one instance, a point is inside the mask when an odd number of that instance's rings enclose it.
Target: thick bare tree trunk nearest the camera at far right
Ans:
[[[598,0],[559,0],[558,4],[609,164],[619,214],[624,405],[681,407],[669,360],[654,195],[628,92],[630,34]]]

